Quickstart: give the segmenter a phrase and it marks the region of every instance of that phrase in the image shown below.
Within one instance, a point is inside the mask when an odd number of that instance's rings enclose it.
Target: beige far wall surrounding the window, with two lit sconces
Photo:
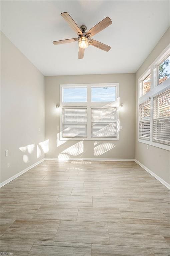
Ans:
[[[60,125],[56,104],[60,102],[60,84],[119,83],[119,141],[59,141]],[[75,75],[45,77],[45,139],[49,140],[46,157],[55,158],[134,158],[135,156],[135,74]]]

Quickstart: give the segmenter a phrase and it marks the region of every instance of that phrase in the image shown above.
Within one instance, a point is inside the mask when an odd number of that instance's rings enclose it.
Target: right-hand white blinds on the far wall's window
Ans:
[[[91,137],[116,138],[116,108],[91,108]]]

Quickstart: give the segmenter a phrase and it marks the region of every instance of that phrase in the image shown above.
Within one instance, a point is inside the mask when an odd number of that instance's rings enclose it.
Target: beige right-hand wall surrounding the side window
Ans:
[[[138,102],[138,78],[145,72],[145,70],[151,65],[151,63],[159,56],[159,54],[170,43],[170,28],[166,31],[153,51],[144,61],[142,66],[136,72],[136,150],[135,158],[145,165],[148,169],[161,177],[166,182],[170,183],[170,151],[161,148],[153,147],[149,145],[149,149],[146,149],[146,144],[138,142],[137,139],[137,127],[138,127],[138,115],[137,115],[137,102]]]

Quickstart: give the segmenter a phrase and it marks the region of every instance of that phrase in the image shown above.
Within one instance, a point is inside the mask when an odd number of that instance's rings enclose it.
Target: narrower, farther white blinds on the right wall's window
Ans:
[[[139,105],[139,139],[150,140],[150,100]]]

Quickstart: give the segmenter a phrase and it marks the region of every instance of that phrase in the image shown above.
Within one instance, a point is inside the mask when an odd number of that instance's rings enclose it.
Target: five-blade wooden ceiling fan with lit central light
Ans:
[[[66,43],[73,43],[78,42],[79,44],[79,52],[78,52],[78,59],[82,59],[84,57],[84,50],[89,45],[93,45],[101,50],[108,52],[110,50],[110,46],[100,43],[94,39],[91,39],[92,36],[99,33],[103,29],[107,28],[109,25],[112,24],[112,21],[109,17],[106,17],[104,20],[100,21],[97,25],[87,31],[87,27],[82,25],[80,28],[77,26],[75,21],[71,18],[68,12],[61,13],[61,16],[68,22],[70,27],[77,33],[77,38],[65,39],[54,41],[53,44],[66,44]],[[87,32],[86,32],[87,31]]]

